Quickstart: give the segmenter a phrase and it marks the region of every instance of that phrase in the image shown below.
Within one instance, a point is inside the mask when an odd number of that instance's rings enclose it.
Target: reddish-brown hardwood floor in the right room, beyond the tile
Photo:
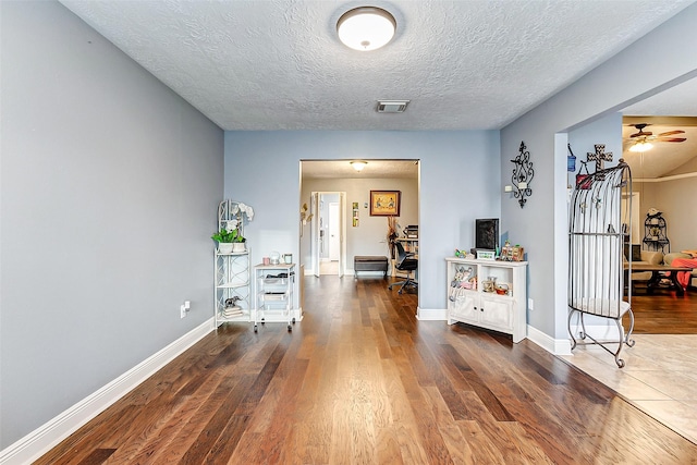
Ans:
[[[648,294],[644,283],[637,284],[632,295],[632,310],[637,334],[697,334],[695,287],[683,295],[671,287],[659,287]],[[624,326],[627,327],[626,321]]]

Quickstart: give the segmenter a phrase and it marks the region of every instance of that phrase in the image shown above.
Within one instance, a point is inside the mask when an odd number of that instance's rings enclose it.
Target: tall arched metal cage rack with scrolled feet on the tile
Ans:
[[[568,334],[575,348],[580,340],[614,355],[620,368],[623,345],[633,346],[632,261],[625,262],[625,241],[632,243],[632,173],[620,164],[596,171],[576,183],[568,212]],[[626,224],[626,228],[624,227]],[[625,230],[628,234],[625,234]],[[626,293],[626,294],[625,294]],[[573,316],[578,316],[576,325]],[[614,320],[616,339],[599,341],[588,334],[584,317]],[[628,329],[622,326],[628,316]],[[616,347],[616,348],[615,348]]]

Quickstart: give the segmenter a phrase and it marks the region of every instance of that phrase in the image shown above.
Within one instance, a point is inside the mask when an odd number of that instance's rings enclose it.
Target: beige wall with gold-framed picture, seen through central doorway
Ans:
[[[384,255],[389,257],[387,244],[388,220],[370,216],[370,191],[400,191],[401,209],[398,224],[402,228],[418,224],[418,181],[404,179],[322,179],[303,181],[301,198],[309,205],[313,192],[337,191],[346,193],[346,269],[353,269],[356,255]],[[358,203],[358,225],[352,225],[353,206]],[[368,208],[365,205],[368,204]],[[306,227],[309,232],[310,225]],[[401,230],[400,230],[401,232]],[[301,257],[307,272],[311,271],[310,235],[301,241]]]

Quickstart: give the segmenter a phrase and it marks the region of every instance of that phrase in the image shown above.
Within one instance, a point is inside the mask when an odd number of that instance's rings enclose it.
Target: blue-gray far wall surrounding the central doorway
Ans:
[[[474,246],[476,218],[499,217],[498,131],[225,132],[225,197],[255,209],[245,227],[252,260],[285,247],[298,254],[299,160],[358,156],[420,160],[419,307],[444,309],[444,257]]]

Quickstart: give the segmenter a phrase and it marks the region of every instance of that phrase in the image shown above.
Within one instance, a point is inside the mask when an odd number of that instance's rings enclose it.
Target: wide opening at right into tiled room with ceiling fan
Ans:
[[[692,86],[697,86],[697,79]],[[609,140],[612,137],[620,138],[621,148],[617,143],[610,149],[615,152],[615,160],[623,158],[632,169],[633,195],[632,211],[632,252],[633,261],[651,261],[649,265],[661,265],[665,257],[683,248],[690,248],[694,243],[694,221],[695,205],[686,201],[694,198],[694,178],[697,176],[697,159],[694,149],[687,154],[681,151],[689,144],[690,139],[697,139],[695,124],[687,124],[687,118],[674,119],[672,111],[665,115],[647,117],[655,114],[652,109],[669,109],[670,105],[656,105],[659,100],[670,103],[671,101],[685,101],[694,91],[683,94],[678,98],[669,95],[670,90],[658,94],[655,97],[635,103],[631,108],[622,111],[622,114],[607,117],[609,125],[606,127],[594,127],[592,139],[588,140],[588,150],[592,149],[596,140]],[[651,102],[650,100],[653,100]],[[682,113],[681,113],[682,114]],[[665,120],[664,120],[665,119]],[[596,120],[597,124],[606,119]],[[620,123],[622,124],[620,129]],[[590,123],[590,124],[594,124]],[[664,134],[667,132],[677,132],[670,136],[686,138],[684,142],[663,144],[657,142],[649,151],[631,151],[636,139],[643,139],[639,134],[641,129],[636,125],[650,124],[644,126],[644,133],[651,132],[652,135]],[[588,125],[587,125],[588,126]],[[575,131],[583,131],[586,126]],[[572,133],[573,134],[573,133]],[[647,136],[647,140],[648,140]],[[572,145],[573,140],[572,140]],[[584,148],[579,146],[577,152],[583,154]],[[617,156],[617,154],[621,154]],[[652,159],[649,158],[652,157]],[[682,157],[685,158],[682,158]],[[692,195],[690,195],[692,194]],[[657,208],[668,220],[668,233],[670,237],[670,249],[657,250],[657,247],[649,247],[652,238],[647,237],[646,221],[650,220],[649,209]],[[626,205],[623,211],[627,215]],[[692,213],[692,215],[690,215]],[[638,256],[634,256],[636,247]],[[650,248],[650,249],[649,249]],[[670,250],[670,252],[669,252]],[[650,255],[646,255],[648,252]],[[645,260],[645,257],[647,258]],[[657,264],[652,261],[656,260]],[[664,264],[663,264],[664,265]],[[640,278],[644,274],[646,278]],[[609,369],[607,353],[596,351],[596,347],[577,347],[573,355],[564,356],[572,365],[586,371],[594,378],[600,380],[608,387],[619,392],[625,400],[633,403],[648,415],[659,419],[665,426],[680,432],[681,435],[697,440],[697,429],[694,428],[693,418],[697,417],[697,402],[693,395],[694,378],[690,364],[695,363],[690,355],[697,348],[697,303],[695,295],[697,292],[689,290],[684,295],[677,295],[674,286],[667,283],[665,286],[657,285],[647,289],[645,279],[651,278],[652,273],[636,273],[632,280],[632,309],[634,313],[634,330],[632,339],[636,344],[632,348],[623,348],[627,359],[627,367]],[[697,281],[693,280],[693,283]],[[628,322],[625,321],[625,331]],[[612,362],[610,362],[611,364]],[[637,389],[640,387],[640,389]],[[678,405],[673,408],[673,405]]]

